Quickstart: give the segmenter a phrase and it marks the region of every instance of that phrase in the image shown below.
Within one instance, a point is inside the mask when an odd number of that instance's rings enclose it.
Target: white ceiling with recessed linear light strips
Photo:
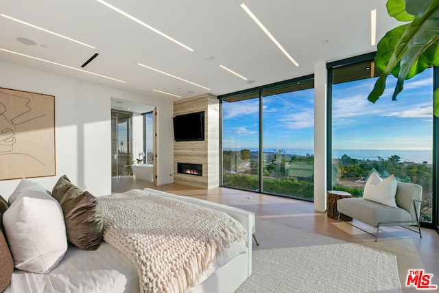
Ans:
[[[383,0],[244,0],[298,62],[296,66],[241,8],[243,0],[106,0],[138,22],[99,1],[0,0],[0,14],[4,15],[0,16],[0,60],[154,99],[177,100],[289,80],[313,73],[316,63],[375,51],[370,40],[373,9],[377,9],[377,40],[399,25],[388,16]],[[34,43],[23,44],[20,38]],[[96,53],[99,55],[82,68]]]

